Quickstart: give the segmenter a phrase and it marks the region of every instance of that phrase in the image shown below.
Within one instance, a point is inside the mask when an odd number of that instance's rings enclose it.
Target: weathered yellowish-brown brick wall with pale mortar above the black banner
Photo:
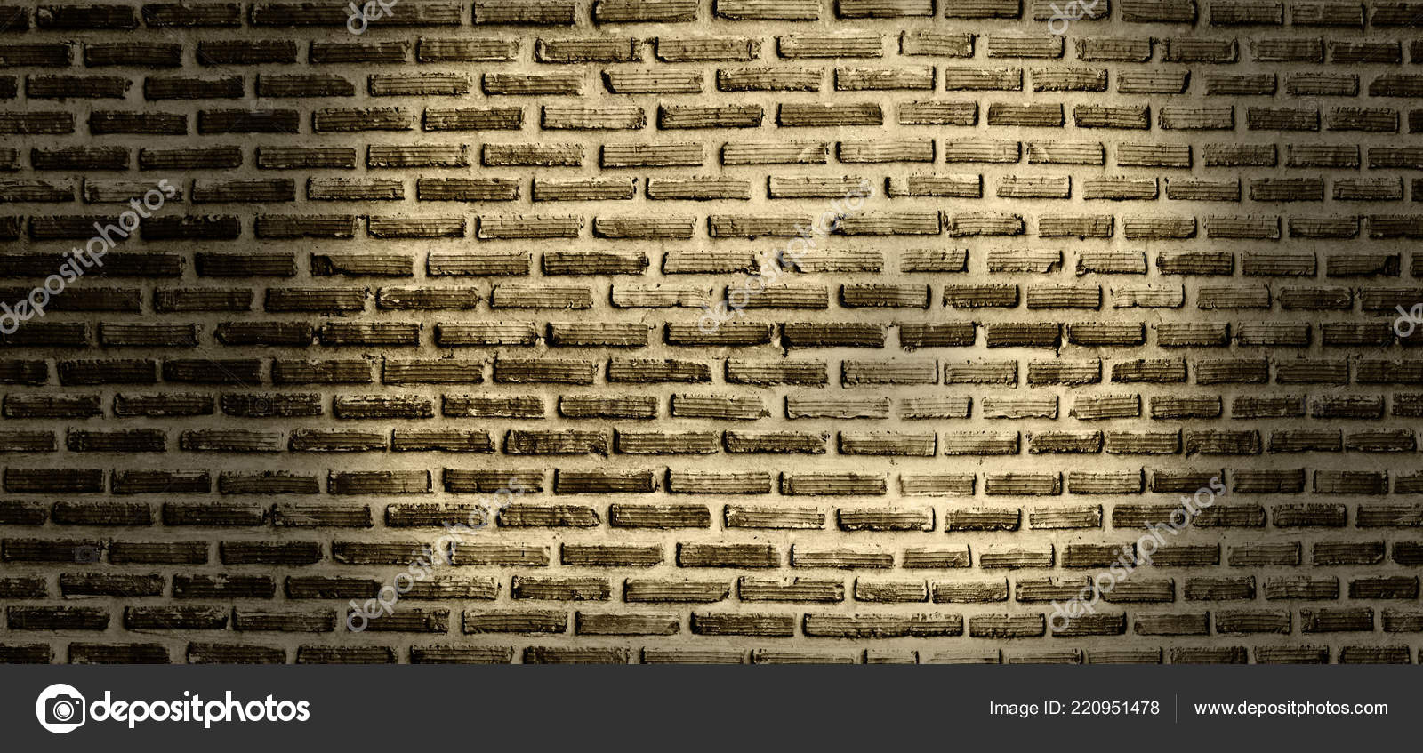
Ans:
[[[0,659],[1419,660],[1423,4],[1054,13],[4,4]]]

